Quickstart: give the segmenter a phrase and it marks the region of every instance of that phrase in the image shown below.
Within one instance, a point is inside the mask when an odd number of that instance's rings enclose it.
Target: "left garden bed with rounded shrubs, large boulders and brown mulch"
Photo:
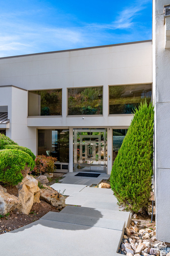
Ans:
[[[43,155],[36,158],[30,149],[0,134],[0,234],[65,207],[65,197],[47,186],[51,185],[49,180],[55,183],[62,176],[53,180],[55,160]],[[37,178],[29,175],[42,172],[45,175]],[[39,218],[30,218],[30,214],[37,216],[39,212]]]

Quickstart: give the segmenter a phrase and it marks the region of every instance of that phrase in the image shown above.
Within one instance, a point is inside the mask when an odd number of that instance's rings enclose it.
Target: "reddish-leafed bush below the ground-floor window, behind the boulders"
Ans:
[[[41,172],[53,172],[54,171],[54,162],[57,161],[56,157],[38,155],[36,156],[36,165],[32,172],[41,173]]]

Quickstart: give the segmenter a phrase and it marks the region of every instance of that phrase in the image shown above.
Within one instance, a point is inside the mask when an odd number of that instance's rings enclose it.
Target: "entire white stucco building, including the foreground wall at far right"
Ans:
[[[0,132],[56,171],[110,174],[131,111],[153,100],[156,238],[170,243],[168,4],[153,1],[152,40],[0,58]]]

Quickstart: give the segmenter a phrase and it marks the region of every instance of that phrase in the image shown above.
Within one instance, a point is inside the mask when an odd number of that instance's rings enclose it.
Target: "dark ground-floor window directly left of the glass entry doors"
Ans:
[[[38,155],[56,157],[58,162],[69,163],[69,130],[38,130]]]

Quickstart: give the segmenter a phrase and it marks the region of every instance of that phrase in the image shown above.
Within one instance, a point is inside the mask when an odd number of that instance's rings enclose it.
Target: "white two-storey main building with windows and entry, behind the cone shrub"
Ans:
[[[0,69],[7,136],[59,171],[110,174],[133,107],[151,100],[152,42],[0,58]]]

